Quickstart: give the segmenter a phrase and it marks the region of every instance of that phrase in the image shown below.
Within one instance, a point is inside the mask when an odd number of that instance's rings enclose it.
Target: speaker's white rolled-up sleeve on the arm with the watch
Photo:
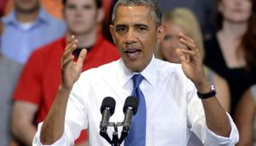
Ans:
[[[190,130],[206,146],[234,146],[239,140],[239,133],[231,116],[227,113],[231,126],[229,137],[222,137],[212,132],[206,125],[204,108],[201,99],[197,96],[195,86],[190,81],[188,85],[188,125]]]

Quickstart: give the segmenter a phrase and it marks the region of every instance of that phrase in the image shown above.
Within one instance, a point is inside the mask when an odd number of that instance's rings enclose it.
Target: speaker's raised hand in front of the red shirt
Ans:
[[[67,42],[63,56],[61,58],[61,79],[62,86],[71,89],[73,84],[79,78],[83,61],[86,57],[87,50],[82,49],[77,62],[73,61],[74,56],[72,55],[73,50],[77,48],[78,40],[72,35]]]

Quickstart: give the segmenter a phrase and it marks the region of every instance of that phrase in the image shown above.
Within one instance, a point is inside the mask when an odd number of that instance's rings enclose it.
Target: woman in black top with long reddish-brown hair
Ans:
[[[256,84],[256,2],[218,0],[216,12],[218,32],[205,43],[204,63],[228,82],[230,97],[227,98],[230,100],[226,101],[230,101],[230,112],[238,123],[244,114],[239,112],[243,109],[237,108],[237,105],[244,92]],[[243,137],[246,130],[243,125],[237,126],[240,132],[238,145],[245,145],[248,143]],[[249,143],[252,144],[252,139]]]

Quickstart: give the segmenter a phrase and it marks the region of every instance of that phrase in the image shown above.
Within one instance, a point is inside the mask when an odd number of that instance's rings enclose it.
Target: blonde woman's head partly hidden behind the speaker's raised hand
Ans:
[[[165,37],[156,50],[156,57],[168,62],[179,63],[179,58],[175,53],[177,48],[187,49],[179,41],[178,33],[182,32],[194,39],[201,56],[204,56],[202,34],[196,16],[186,8],[176,8],[167,11],[162,24],[165,26]]]

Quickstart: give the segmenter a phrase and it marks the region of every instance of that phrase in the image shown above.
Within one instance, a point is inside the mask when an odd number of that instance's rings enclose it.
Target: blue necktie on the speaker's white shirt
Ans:
[[[126,137],[125,146],[145,146],[146,145],[146,102],[139,86],[143,80],[141,74],[134,75],[132,96],[138,98],[139,105],[135,116],[132,119],[132,125],[129,135]]]

